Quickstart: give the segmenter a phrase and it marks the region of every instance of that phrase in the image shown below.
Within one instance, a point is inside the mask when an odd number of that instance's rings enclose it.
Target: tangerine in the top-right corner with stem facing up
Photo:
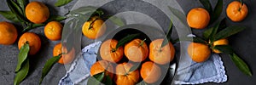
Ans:
[[[228,5],[226,13],[230,20],[241,21],[247,17],[248,8],[245,3],[241,4],[238,1],[233,1]]]

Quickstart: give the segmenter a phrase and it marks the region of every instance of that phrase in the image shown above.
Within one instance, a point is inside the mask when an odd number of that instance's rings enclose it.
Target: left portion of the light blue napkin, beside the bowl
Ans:
[[[96,54],[102,42],[94,42],[82,49],[81,57],[75,59],[67,71],[65,77],[62,77],[59,85],[86,85],[90,77],[90,66],[96,63]]]

